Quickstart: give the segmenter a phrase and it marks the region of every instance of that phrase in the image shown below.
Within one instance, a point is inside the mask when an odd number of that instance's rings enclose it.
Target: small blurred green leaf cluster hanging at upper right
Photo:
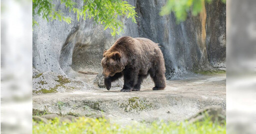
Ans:
[[[225,0],[221,1],[225,3]],[[197,15],[202,10],[204,2],[210,3],[211,0],[168,0],[159,14],[163,16],[173,11],[177,23],[179,23],[186,19],[188,11],[191,11],[194,16]]]

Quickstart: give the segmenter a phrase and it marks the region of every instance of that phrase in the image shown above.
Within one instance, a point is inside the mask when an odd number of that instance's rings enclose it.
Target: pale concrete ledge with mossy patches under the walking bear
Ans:
[[[166,85],[161,91],[152,91],[153,82],[145,81],[136,92],[115,88],[34,95],[33,110],[76,116],[103,114],[112,123],[128,125],[182,121],[212,105],[225,109],[225,74],[170,80]]]

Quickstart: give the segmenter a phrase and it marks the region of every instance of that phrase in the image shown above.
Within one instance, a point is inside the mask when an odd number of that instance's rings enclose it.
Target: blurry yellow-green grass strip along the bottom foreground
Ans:
[[[219,125],[210,120],[188,124],[182,123],[152,123],[133,124],[120,127],[110,124],[105,119],[90,119],[81,117],[74,123],[60,123],[58,119],[49,124],[33,124],[33,134],[225,134],[225,124]]]

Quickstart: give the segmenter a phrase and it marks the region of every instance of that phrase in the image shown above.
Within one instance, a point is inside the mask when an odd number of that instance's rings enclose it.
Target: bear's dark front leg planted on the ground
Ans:
[[[137,83],[138,73],[135,71],[128,71],[123,75],[124,84],[121,92],[130,92],[133,90],[134,85]]]

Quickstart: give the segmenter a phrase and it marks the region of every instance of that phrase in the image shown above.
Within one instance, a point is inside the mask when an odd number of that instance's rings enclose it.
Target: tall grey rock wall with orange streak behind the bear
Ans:
[[[75,0],[82,6],[81,0]],[[75,77],[78,71],[98,72],[104,50],[124,35],[145,37],[159,43],[164,55],[166,78],[172,78],[200,70],[225,68],[225,4],[213,0],[205,4],[203,11],[176,24],[173,13],[159,16],[165,0],[127,0],[135,6],[137,23],[121,18],[124,33],[115,37],[92,20],[76,21],[60,3],[56,8],[69,14],[71,24],[53,20],[46,22],[41,17],[34,19],[39,26],[33,28],[33,67],[39,72],[52,71]]]

